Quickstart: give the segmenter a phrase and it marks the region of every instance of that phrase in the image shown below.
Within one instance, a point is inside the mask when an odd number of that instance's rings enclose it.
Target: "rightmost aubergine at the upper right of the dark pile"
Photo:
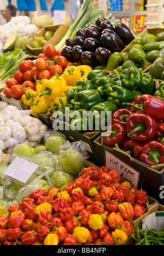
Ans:
[[[136,38],[131,29],[123,23],[118,23],[115,26],[115,32],[119,35],[119,37],[126,45],[130,44]]]

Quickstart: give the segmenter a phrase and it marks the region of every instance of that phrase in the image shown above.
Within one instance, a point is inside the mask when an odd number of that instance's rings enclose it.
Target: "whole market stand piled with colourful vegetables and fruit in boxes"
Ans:
[[[0,56],[0,245],[164,245],[164,29],[35,26]]]

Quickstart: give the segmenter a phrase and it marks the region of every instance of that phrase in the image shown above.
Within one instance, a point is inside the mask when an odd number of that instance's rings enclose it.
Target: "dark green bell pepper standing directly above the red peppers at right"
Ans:
[[[155,82],[153,80],[152,75],[147,73],[143,74],[142,86],[140,87],[140,91],[143,92],[143,94],[154,94]]]

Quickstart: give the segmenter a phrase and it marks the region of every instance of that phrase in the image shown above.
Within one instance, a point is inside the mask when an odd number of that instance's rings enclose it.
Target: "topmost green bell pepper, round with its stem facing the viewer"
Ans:
[[[140,69],[136,67],[130,67],[122,71],[120,79],[124,88],[135,91],[140,89],[142,86],[143,74]]]

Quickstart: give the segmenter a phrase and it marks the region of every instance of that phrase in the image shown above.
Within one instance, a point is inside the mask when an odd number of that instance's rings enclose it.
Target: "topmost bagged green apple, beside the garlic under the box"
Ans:
[[[60,148],[66,143],[66,139],[61,136],[50,136],[46,139],[45,147],[52,154],[59,154]]]

